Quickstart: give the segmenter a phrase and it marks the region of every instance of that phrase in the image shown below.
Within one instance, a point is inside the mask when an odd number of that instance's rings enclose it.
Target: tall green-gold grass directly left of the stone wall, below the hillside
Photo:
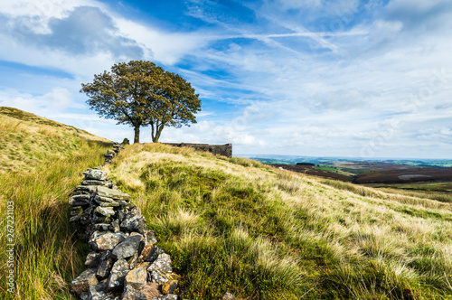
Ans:
[[[87,248],[71,239],[68,197],[80,172],[103,163],[107,145],[80,140],[69,155],[52,155],[29,171],[0,173],[0,257],[5,258],[6,202],[14,202],[14,295],[6,291],[2,259],[0,298],[75,299],[68,283]]]

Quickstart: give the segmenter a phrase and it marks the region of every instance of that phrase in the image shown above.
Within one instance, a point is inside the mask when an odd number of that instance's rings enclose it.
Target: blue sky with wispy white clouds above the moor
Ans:
[[[452,158],[450,0],[2,0],[0,44],[0,106],[113,141],[133,128],[99,118],[81,83],[146,60],[202,100],[161,142]]]

